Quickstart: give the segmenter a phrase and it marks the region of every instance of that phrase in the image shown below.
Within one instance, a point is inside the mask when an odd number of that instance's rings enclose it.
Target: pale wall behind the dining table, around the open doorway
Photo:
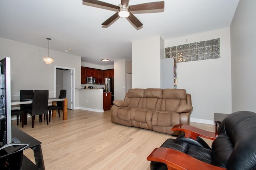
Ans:
[[[43,61],[47,56],[46,48],[0,38],[0,58],[11,58],[12,100],[19,99],[20,90],[26,89],[49,90],[49,97],[54,97],[54,66],[74,68],[74,87],[80,88],[81,57],[50,50],[54,63],[47,65]]]

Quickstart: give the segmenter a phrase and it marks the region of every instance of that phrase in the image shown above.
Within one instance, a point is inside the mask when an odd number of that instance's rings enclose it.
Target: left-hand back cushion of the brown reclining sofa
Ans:
[[[142,102],[144,99],[144,89],[133,88],[128,90],[124,101],[128,104],[128,107],[131,108],[142,108]]]

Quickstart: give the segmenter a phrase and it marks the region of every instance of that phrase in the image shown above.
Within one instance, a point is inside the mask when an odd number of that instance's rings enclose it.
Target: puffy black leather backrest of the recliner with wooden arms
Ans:
[[[228,170],[256,169],[256,113],[237,111],[228,115],[212,143],[214,165]]]

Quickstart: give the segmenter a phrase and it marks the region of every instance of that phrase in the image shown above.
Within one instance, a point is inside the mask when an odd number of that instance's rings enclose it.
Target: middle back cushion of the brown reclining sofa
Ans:
[[[163,90],[160,88],[145,89],[144,100],[142,102],[142,109],[160,111],[162,103],[162,91]]]

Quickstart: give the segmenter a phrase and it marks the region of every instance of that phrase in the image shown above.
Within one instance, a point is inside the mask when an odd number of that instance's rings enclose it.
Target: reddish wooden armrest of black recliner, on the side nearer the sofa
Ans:
[[[192,138],[194,140],[196,140],[198,136],[211,140],[214,140],[216,137],[218,137],[218,133],[216,132],[205,131],[190,125],[175,125],[172,128],[172,131],[184,131],[185,137]]]

